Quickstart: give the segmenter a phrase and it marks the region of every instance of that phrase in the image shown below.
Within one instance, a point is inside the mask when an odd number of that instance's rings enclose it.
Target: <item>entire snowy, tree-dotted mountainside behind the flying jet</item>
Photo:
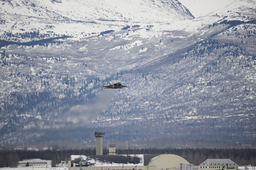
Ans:
[[[90,143],[95,129],[255,140],[255,1],[199,18],[179,1],[26,2],[0,7],[2,145]],[[130,88],[102,89],[108,80]]]

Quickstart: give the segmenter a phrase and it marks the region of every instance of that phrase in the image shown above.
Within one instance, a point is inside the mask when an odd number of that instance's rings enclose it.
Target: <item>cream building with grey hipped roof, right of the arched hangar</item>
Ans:
[[[206,159],[198,170],[238,170],[238,165],[230,159]]]

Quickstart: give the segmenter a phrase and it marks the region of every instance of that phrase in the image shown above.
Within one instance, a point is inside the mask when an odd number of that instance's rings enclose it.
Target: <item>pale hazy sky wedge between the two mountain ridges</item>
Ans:
[[[194,17],[207,15],[208,13],[221,9],[235,0],[179,0],[186,6]]]

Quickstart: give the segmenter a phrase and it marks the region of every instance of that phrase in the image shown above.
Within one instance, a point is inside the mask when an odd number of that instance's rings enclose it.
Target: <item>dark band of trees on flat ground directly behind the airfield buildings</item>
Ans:
[[[256,164],[256,149],[118,149],[122,154],[175,154],[186,159],[189,163],[198,166],[206,159],[231,159],[239,166]],[[103,149],[103,155],[108,150]],[[46,151],[9,151],[0,150],[0,167],[17,166],[18,161],[23,159],[46,159],[52,160],[52,166],[60,164],[61,160],[70,158],[70,155],[95,155],[96,149],[70,149],[70,150],[46,150]],[[247,157],[249,159],[247,159]]]

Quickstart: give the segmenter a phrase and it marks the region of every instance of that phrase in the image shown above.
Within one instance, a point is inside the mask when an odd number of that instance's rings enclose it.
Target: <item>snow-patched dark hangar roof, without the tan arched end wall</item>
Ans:
[[[160,154],[138,155],[82,155],[82,166],[147,166]],[[79,165],[79,155],[71,155],[73,166]]]

